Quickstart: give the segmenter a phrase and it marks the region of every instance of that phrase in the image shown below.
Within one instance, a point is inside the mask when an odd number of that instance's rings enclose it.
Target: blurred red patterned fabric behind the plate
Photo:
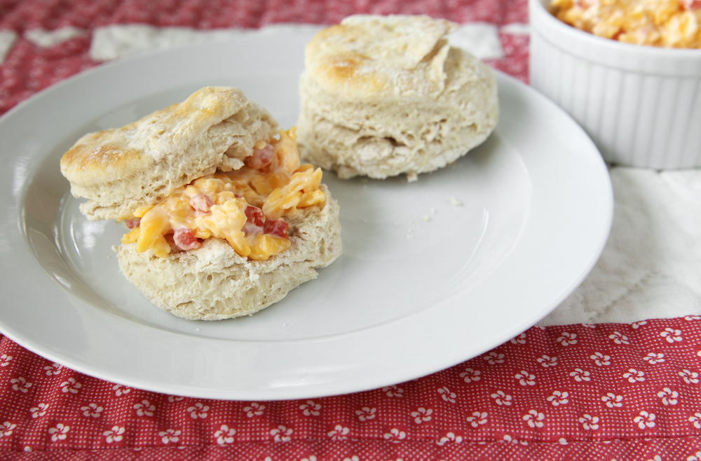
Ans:
[[[48,85],[97,65],[88,55],[90,34],[51,48],[40,48],[22,36],[32,29],[53,30],[72,26],[89,32],[108,24],[132,23],[196,29],[256,28],[289,22],[334,24],[354,13],[428,14],[460,23],[510,24],[527,20],[524,0],[387,0],[376,3],[367,0],[0,0],[0,30],[20,34],[0,66],[0,114]],[[506,57],[490,64],[526,81],[528,39],[504,34],[502,38]]]

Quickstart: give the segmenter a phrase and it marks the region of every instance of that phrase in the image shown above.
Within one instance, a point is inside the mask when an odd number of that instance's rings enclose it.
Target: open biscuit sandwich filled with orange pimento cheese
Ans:
[[[118,129],[61,159],[90,220],[128,227],[115,246],[128,280],[193,320],[250,315],[341,254],[339,206],[322,171],[300,164],[294,129],[233,87]]]

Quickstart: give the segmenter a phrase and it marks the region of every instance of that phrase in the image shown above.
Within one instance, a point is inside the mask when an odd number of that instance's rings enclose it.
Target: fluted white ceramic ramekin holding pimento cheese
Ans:
[[[607,162],[701,166],[701,50],[631,45],[580,31],[529,0],[531,85],[589,133]]]

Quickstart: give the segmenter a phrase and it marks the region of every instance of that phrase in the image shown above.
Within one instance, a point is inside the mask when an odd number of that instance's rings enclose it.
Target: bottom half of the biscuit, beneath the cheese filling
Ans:
[[[325,204],[289,217],[291,246],[267,260],[242,257],[224,239],[210,238],[195,250],[156,257],[137,253],[135,243],[115,247],[128,281],[156,306],[190,320],[251,315],[280,301],[318,276],[341,255],[339,205],[325,187]]]

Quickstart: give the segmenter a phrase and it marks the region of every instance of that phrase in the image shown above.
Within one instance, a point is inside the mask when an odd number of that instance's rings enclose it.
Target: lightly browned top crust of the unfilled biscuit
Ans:
[[[308,43],[305,72],[339,97],[441,92],[447,34],[457,25],[424,15],[349,16]]]

